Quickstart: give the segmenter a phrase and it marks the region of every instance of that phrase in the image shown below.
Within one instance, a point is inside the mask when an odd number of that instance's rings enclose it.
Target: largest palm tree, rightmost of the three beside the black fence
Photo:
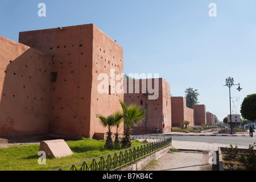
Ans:
[[[123,125],[125,126],[125,137],[122,139],[121,143],[123,148],[129,148],[131,147],[130,135],[132,128],[142,124],[145,111],[136,105],[130,105],[127,108],[123,101],[119,100],[119,102],[123,109]]]

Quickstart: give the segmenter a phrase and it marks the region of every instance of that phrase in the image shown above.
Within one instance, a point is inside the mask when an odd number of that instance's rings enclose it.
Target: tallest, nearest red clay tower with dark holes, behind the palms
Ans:
[[[20,32],[19,42],[53,57],[49,132],[90,138],[105,133],[96,114],[121,110],[123,94],[98,93],[97,78],[106,73],[110,82],[110,69],[123,72],[122,47],[94,24]]]

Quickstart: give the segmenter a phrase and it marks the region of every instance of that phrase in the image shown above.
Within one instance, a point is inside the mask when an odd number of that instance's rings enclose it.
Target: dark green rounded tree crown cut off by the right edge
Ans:
[[[256,93],[250,94],[243,99],[240,112],[243,119],[252,122],[256,121]]]

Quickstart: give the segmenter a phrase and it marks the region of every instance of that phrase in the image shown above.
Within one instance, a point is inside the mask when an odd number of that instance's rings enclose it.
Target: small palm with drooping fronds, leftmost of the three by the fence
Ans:
[[[101,126],[108,128],[105,147],[111,148],[113,147],[113,141],[111,138],[111,135],[112,135],[111,129],[113,126],[115,126],[115,123],[117,121],[122,119],[123,115],[118,112],[116,112],[115,114],[108,115],[108,117],[104,117],[103,115],[99,115],[99,114],[96,114],[96,115],[100,119]]]

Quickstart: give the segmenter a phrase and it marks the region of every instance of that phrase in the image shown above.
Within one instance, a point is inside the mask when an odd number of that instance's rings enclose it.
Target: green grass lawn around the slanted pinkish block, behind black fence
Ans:
[[[77,141],[68,141],[67,144],[73,152],[72,156],[61,159],[46,159],[45,165],[38,164],[39,144],[0,148],[0,171],[48,171],[122,150],[121,148],[108,150],[104,147],[105,140],[87,138]],[[142,143],[133,141],[132,144],[134,147]]]

